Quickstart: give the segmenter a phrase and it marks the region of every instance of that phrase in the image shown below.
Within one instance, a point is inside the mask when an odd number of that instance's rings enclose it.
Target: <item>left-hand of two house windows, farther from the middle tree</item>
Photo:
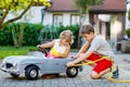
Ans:
[[[54,26],[63,25],[63,15],[62,14],[54,14],[53,15],[53,24],[54,24]]]

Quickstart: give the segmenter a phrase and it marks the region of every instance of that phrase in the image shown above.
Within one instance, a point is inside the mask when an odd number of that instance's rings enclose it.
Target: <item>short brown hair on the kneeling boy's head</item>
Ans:
[[[83,34],[90,34],[90,33],[94,33],[94,28],[92,25],[83,25],[79,30],[80,36]]]

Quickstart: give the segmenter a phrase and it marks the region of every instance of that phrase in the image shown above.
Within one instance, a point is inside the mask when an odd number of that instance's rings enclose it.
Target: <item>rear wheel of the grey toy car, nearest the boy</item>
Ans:
[[[78,67],[73,66],[73,67],[67,67],[66,74],[68,77],[75,77],[78,74]]]

